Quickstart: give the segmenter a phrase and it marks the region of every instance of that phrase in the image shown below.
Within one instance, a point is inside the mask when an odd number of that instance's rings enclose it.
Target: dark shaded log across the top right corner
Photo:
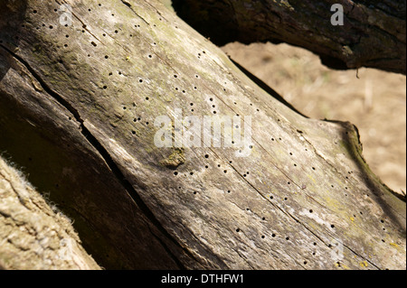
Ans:
[[[377,68],[405,75],[403,0],[173,0],[176,12],[217,44],[287,42],[336,69]],[[334,26],[334,4],[344,25]],[[335,15],[336,19],[336,15]]]

